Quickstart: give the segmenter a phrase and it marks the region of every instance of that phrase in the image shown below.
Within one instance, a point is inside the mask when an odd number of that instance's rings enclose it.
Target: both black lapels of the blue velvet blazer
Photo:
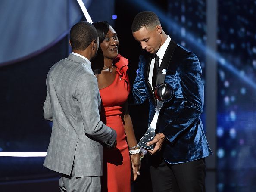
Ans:
[[[166,76],[167,68],[168,68],[169,63],[171,62],[172,55],[173,55],[173,52],[175,50],[176,44],[177,43],[175,43],[175,41],[171,40],[169,45],[168,45],[168,47],[167,47],[167,49],[166,49],[166,51],[165,51],[165,55],[164,55],[164,57],[162,59],[160,68],[159,68],[158,73],[157,73],[156,85],[165,82],[165,76]],[[149,94],[150,99],[156,105],[156,98],[154,96],[153,90],[151,89],[151,85],[148,82],[148,76],[149,76],[149,71],[150,71],[150,64],[151,64],[151,60],[152,60],[153,56],[148,54],[148,56],[146,58],[147,59],[146,59],[146,66],[145,66],[145,71],[144,71],[145,72],[144,77],[146,77],[145,78],[146,79],[146,85],[147,85],[148,92],[150,93]],[[165,73],[164,73],[164,69],[165,69]]]

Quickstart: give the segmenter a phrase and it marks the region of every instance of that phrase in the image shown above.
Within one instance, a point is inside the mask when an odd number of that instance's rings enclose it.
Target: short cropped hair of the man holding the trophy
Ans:
[[[141,28],[154,28],[157,25],[161,25],[156,13],[151,11],[143,11],[138,13],[132,22],[131,31],[136,32]]]

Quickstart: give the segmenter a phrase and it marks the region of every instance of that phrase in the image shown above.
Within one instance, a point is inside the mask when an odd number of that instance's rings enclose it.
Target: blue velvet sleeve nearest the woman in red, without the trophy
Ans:
[[[143,65],[144,67],[142,67]],[[145,68],[145,59],[144,59],[144,56],[140,56],[137,76],[135,78],[135,81],[132,87],[134,103],[137,105],[144,103],[147,99],[147,92],[146,92],[145,83],[144,83],[145,81],[144,68]]]

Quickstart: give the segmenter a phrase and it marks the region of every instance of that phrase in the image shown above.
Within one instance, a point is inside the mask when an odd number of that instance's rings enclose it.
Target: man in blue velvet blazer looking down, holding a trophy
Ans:
[[[156,85],[165,82],[174,90],[159,113],[155,138],[147,143],[155,145],[148,150],[153,191],[204,192],[205,157],[212,152],[200,119],[204,87],[197,56],[165,34],[153,12],[137,14],[131,28],[143,49],[132,91],[136,104],[149,99],[149,123],[156,110]]]

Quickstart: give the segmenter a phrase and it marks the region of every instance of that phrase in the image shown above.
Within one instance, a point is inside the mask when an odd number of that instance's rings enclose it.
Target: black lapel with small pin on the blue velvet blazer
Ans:
[[[175,41],[171,40],[171,42],[169,43],[169,45],[168,45],[168,47],[165,51],[165,55],[162,59],[160,68],[159,68],[158,73],[157,73],[156,85],[165,82],[165,76],[166,76],[167,68],[168,68],[168,65],[169,65],[169,63],[172,59],[172,55],[173,55],[173,52],[175,50],[176,44],[177,43],[175,43]]]

